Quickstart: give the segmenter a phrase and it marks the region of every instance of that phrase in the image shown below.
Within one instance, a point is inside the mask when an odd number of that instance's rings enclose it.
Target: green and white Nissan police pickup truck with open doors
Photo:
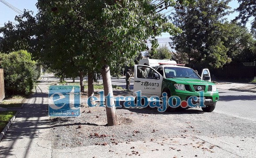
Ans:
[[[148,63],[150,66],[143,65]],[[142,70],[145,72],[142,76]],[[192,68],[180,66],[176,61],[142,59],[134,66],[133,96],[141,90],[141,96],[161,97],[166,92],[168,97],[177,96],[181,101],[188,101],[191,96],[198,97],[193,103],[203,102],[203,111],[211,112],[215,109],[219,99],[216,85],[211,81],[208,69],[203,69],[201,75]],[[203,94],[203,97],[202,97]],[[137,98],[135,98],[136,102]],[[189,108],[189,107],[187,107]],[[167,111],[177,108],[168,107]]]

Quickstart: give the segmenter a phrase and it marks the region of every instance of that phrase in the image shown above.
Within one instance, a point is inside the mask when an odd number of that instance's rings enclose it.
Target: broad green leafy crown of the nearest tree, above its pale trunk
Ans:
[[[169,7],[190,1],[161,3]],[[17,16],[14,34],[23,36],[23,47],[33,57],[68,72],[96,71],[104,64],[120,70],[147,48],[147,39],[156,48],[155,37],[162,32],[181,32],[151,0],[38,0],[37,7],[36,16],[28,11]]]

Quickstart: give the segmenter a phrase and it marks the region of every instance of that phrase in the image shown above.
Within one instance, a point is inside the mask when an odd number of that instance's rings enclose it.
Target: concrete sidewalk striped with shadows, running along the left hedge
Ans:
[[[48,87],[41,83],[0,142],[1,158],[50,158]]]

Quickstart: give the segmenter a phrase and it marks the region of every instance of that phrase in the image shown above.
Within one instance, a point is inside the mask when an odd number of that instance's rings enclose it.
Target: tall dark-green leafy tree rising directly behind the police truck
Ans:
[[[183,32],[172,36],[177,52],[188,54],[190,64],[222,67],[230,62],[228,48],[224,46],[223,21],[230,13],[230,0],[197,0],[196,4],[173,13],[173,22]]]

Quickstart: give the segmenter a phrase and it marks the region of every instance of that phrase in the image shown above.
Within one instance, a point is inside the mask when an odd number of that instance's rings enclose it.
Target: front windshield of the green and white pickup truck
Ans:
[[[165,67],[166,78],[195,78],[201,79],[200,76],[192,68],[182,67]]]

